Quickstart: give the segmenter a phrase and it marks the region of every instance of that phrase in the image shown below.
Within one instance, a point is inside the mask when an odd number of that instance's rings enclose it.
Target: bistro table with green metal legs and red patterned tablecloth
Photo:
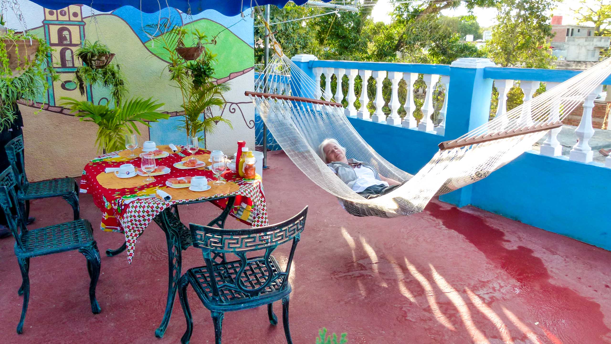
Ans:
[[[101,155],[91,160],[82,171],[81,192],[90,193],[93,203],[102,211],[100,228],[104,231],[119,231],[125,233],[125,242],[117,250],[107,250],[106,255],[114,256],[127,251],[128,262],[134,257],[134,248],[137,237],[144,233],[151,221],[155,221],[161,230],[166,233],[168,253],[168,290],[166,312],[161,325],[156,329],[156,337],[163,337],[167,323],[172,315],[172,306],[178,288],[178,279],[181,276],[181,251],[191,246],[191,233],[189,228],[180,222],[178,204],[192,204],[211,202],[223,209],[221,214],[213,219],[208,226],[224,228],[227,215],[235,217],[241,222],[252,226],[268,225],[265,195],[260,177],[253,182],[243,181],[236,173],[225,171],[221,176],[224,185],[213,185],[211,189],[203,192],[194,192],[188,188],[174,189],[166,186],[169,178],[186,176],[205,176],[208,181],[214,181],[212,171],[206,167],[183,170],[174,167],[174,163],[189,159],[191,153],[185,146],[177,146],[178,152],[172,151],[169,146],[157,146],[158,149],[168,152],[167,157],[156,159],[157,166],[167,166],[170,173],[157,175],[154,182],[146,184],[144,176],[121,179],[114,173],[104,173],[107,167],[119,167],[123,163],[132,163],[140,167],[140,158],[130,158],[130,151],[118,151]],[[141,148],[134,150],[139,155]],[[198,160],[210,166],[210,151],[200,149],[196,153]],[[157,190],[164,190],[172,196],[172,200],[164,201],[156,195]]]

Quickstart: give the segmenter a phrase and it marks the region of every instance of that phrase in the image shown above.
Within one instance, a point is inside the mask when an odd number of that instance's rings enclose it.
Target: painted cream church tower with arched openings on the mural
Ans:
[[[56,105],[55,100],[60,97],[92,99],[89,87],[86,97],[82,96],[77,84],[73,81],[77,64],[80,64],[75,56],[75,51],[85,40],[85,22],[82,20],[81,6],[70,5],[59,10],[44,9],[45,38],[54,49],[51,54],[51,64],[56,68],[60,77],[58,81],[53,82],[53,87],[49,88],[49,105]]]

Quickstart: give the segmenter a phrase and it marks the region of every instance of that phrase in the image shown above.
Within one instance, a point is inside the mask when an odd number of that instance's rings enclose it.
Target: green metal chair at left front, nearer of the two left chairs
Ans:
[[[100,277],[100,252],[93,240],[91,224],[87,220],[64,222],[59,225],[46,226],[36,230],[27,230],[23,211],[24,204],[17,196],[17,179],[13,168],[7,168],[0,174],[0,206],[4,211],[7,225],[15,237],[15,255],[21,269],[23,282],[18,294],[23,294],[21,319],[17,333],[23,332],[23,321],[26,318],[27,303],[30,296],[28,277],[30,258],[50,255],[71,250],[78,250],[87,258],[89,283],[89,301],[93,314],[100,313],[100,305],[95,299],[95,286]]]

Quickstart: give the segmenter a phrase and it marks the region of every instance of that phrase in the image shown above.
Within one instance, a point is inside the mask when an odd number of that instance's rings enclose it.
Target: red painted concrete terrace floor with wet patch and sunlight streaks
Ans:
[[[357,218],[305,178],[283,152],[269,156],[265,191],[269,219],[278,222],[306,204],[310,211],[291,278],[291,334],[315,343],[318,329],[348,332],[348,343],[609,343],[611,252],[480,209],[433,201],[421,214]],[[82,217],[100,212],[81,195]],[[181,217],[207,223],[210,204],[182,206]],[[70,219],[63,200],[33,203],[35,225]],[[231,220],[227,226],[238,228]],[[100,251],[119,247],[118,233],[95,231]],[[13,240],[0,240],[2,343],[179,343],[185,320],[177,301],[164,338],[154,337],[167,288],[164,234],[153,223],[126,256],[102,255],[92,315],[85,258],[62,253],[31,261],[31,300],[24,333],[21,275]],[[276,256],[285,258],[287,249]],[[185,268],[202,264],[197,249]],[[280,258],[280,259],[282,259]],[[189,291],[192,343],[213,343],[210,313]],[[280,314],[279,302],[275,305]],[[280,320],[281,321],[281,320]],[[285,343],[265,307],[227,313],[224,343]]]

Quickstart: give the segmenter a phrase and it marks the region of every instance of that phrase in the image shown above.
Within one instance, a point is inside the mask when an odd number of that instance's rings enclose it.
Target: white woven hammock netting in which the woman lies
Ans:
[[[271,38],[275,53],[268,67],[255,80],[255,91],[320,100],[324,94],[320,84],[282,54],[278,43],[273,36]],[[318,186],[337,196],[346,211],[356,216],[395,217],[421,212],[433,196],[486,178],[532,149],[532,145],[549,132],[543,129],[559,125],[610,73],[611,59],[600,62],[507,111],[504,116],[497,116],[448,142],[466,146],[438,151],[415,175],[400,170],[376,153],[350,124],[343,107],[280,99],[269,94],[249,95],[269,131],[293,163]],[[333,101],[331,95],[327,95],[326,100]],[[452,116],[452,111],[448,113]],[[503,137],[522,132],[527,133]],[[348,159],[367,162],[382,176],[407,182],[378,198],[363,198],[318,157],[318,146],[327,138],[334,138],[345,147]],[[482,140],[491,141],[470,144]],[[409,150],[406,149],[404,156],[409,159]]]

